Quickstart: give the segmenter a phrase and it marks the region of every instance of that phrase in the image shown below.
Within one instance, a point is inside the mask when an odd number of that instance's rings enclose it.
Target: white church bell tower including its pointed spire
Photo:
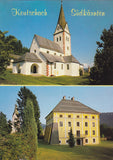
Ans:
[[[57,26],[54,32],[54,42],[58,43],[63,50],[64,56],[71,55],[71,35],[69,32],[68,24],[65,21],[63,5],[61,1],[60,14]]]

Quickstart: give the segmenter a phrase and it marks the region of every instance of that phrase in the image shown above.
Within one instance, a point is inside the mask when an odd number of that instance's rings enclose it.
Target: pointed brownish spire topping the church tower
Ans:
[[[65,16],[64,16],[64,11],[63,11],[63,6],[62,6],[62,0],[61,0],[61,8],[60,8],[60,14],[59,14],[59,18],[58,18],[58,23],[62,29],[64,30],[65,26],[66,26],[66,21],[65,21]]]

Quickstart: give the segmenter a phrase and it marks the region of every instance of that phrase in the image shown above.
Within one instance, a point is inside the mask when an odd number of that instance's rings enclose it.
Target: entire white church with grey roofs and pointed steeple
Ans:
[[[79,76],[83,65],[71,54],[71,35],[61,4],[54,41],[34,35],[30,53],[13,62],[13,73],[44,76]]]

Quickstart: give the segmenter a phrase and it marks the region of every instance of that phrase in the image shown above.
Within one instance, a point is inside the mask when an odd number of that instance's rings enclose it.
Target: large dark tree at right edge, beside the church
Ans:
[[[92,84],[113,84],[113,25],[104,29],[97,42],[98,48],[91,68],[90,81]]]

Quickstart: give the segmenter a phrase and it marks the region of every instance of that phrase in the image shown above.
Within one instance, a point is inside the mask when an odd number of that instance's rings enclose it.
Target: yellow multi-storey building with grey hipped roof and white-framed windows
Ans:
[[[63,99],[46,116],[45,141],[49,144],[68,144],[69,132],[75,145],[99,144],[99,112],[76,101]]]

